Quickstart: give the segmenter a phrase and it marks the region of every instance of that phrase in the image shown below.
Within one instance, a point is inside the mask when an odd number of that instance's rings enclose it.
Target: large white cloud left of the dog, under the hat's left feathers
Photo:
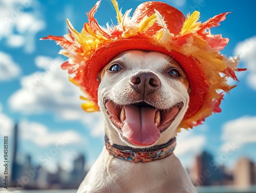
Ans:
[[[60,69],[62,62],[59,58],[36,57],[35,65],[43,71],[34,72],[21,79],[22,88],[9,99],[11,108],[25,114],[52,112],[58,118],[78,120],[90,125],[93,136],[102,135],[102,127],[97,126],[101,124],[100,113],[82,111],[82,100],[79,96],[83,93],[69,82],[68,72]]]

